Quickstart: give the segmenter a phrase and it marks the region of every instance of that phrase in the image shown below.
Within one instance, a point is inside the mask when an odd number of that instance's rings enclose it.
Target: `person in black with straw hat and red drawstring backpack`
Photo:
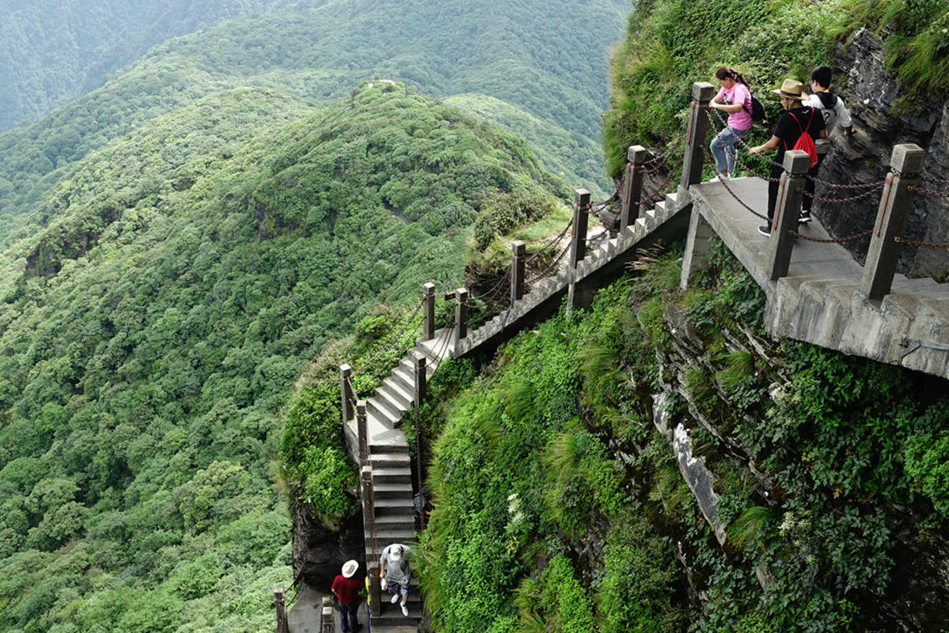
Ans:
[[[772,131],[772,138],[763,145],[757,145],[749,151],[752,154],[761,154],[777,148],[777,156],[772,163],[772,181],[768,183],[768,224],[758,227],[758,233],[771,235],[774,223],[774,207],[777,204],[779,179],[784,174],[784,154],[794,149],[797,140],[807,132],[812,139],[827,137],[827,128],[824,127],[824,118],[809,105],[804,104],[804,85],[796,79],[786,79],[781,87],[772,90],[781,99],[781,107],[786,112],[778,119]]]

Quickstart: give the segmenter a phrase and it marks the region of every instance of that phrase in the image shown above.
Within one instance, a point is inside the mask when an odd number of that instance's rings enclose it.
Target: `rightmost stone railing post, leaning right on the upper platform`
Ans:
[[[909,216],[916,200],[916,185],[920,182],[925,151],[915,143],[896,145],[890,159],[892,172],[886,177],[880,211],[866,251],[864,276],[860,291],[867,299],[879,301],[889,294],[893,275],[900,261],[901,245],[895,238],[906,234]]]

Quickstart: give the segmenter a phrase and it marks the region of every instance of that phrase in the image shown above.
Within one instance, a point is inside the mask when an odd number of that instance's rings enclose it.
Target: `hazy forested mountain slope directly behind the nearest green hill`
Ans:
[[[623,9],[622,0],[337,0],[222,22],[155,47],[92,94],[0,136],[0,213],[23,213],[70,161],[214,91],[259,85],[328,102],[377,75],[434,97],[478,92],[522,108],[581,147],[564,174],[574,186],[608,189],[596,147],[606,50],[622,34]],[[564,163],[561,143],[538,140],[541,158]]]

